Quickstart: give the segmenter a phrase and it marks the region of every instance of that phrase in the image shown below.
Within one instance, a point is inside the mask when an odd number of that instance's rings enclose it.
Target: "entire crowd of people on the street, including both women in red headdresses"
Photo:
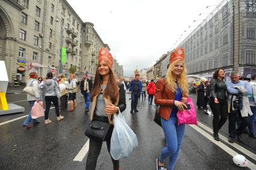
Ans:
[[[168,159],[168,169],[174,169],[178,153],[183,142],[185,124],[177,124],[177,113],[187,109],[187,97],[189,96],[189,85],[187,83],[187,70],[184,64],[184,49],[179,47],[171,53],[169,67],[166,77],[159,80],[140,80],[136,74],[135,79],[126,82],[123,77],[117,80],[112,69],[113,58],[108,49],[102,48],[98,55],[98,67],[94,82],[88,78],[88,72],[79,84],[85,100],[85,112],[90,111],[90,121],[108,123],[110,128],[103,141],[90,138],[86,169],[96,169],[97,158],[99,157],[102,144],[106,141],[108,151],[111,148],[111,136],[114,129],[113,115],[120,114],[126,109],[126,91],[130,92],[131,110],[130,114],[138,111],[138,100],[146,100],[148,106],[154,103],[159,108],[160,121],[165,136],[166,145],[156,157],[157,170],[163,170],[163,162]],[[56,119],[64,117],[59,114],[58,98],[61,100],[61,109],[67,108],[67,100],[70,106],[67,111],[75,111],[75,99],[78,91],[77,80],[74,74],[70,74],[69,80],[64,74],[56,79],[54,74],[47,73],[47,79],[37,79],[37,72],[33,69],[29,72],[27,86],[32,88],[34,96],[28,94],[30,106],[39,100],[46,102],[44,112],[44,123],[49,124],[49,109],[51,103],[55,106]],[[255,137],[254,121],[256,115],[256,74],[252,76],[250,83],[239,80],[240,74],[237,71],[230,73],[231,81],[224,82],[225,71],[218,69],[209,82],[206,78],[200,80],[197,87],[198,110],[207,111],[207,105],[213,112],[213,138],[219,141],[219,130],[228,119],[228,133],[231,143],[237,138],[242,141],[242,133],[249,129],[249,136]],[[64,88],[63,88],[64,86]],[[62,88],[62,89],[61,89]],[[44,94],[44,95],[43,95]],[[90,107],[91,105],[91,107]],[[29,112],[23,126],[31,128],[31,112]],[[35,125],[37,119],[32,120]],[[236,129],[236,124],[238,125]],[[111,157],[112,159],[112,157]],[[119,160],[112,159],[114,170],[119,170]]]

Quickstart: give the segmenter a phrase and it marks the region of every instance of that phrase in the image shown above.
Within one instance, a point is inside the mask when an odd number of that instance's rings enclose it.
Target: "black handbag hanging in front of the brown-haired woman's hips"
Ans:
[[[113,115],[111,115],[112,120]],[[94,115],[93,121],[90,121],[87,124],[87,128],[85,130],[85,135],[88,136],[88,138],[92,138],[96,141],[106,141],[108,139],[109,135],[111,135],[111,129],[113,125],[109,124],[107,117],[97,117]]]

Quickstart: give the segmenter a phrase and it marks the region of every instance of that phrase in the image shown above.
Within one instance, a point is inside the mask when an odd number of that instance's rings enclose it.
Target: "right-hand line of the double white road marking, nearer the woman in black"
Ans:
[[[205,126],[204,124],[198,122],[198,126],[203,127],[203,129],[207,130],[208,132],[212,133],[213,130],[210,129],[209,127]],[[256,154],[252,153],[251,151],[246,150],[246,148],[241,147],[240,145],[236,143],[230,143],[228,142],[228,138],[225,136],[219,134],[219,138],[222,139],[223,141],[227,142],[230,144],[232,147],[236,148],[237,150],[241,151],[242,153],[246,154],[247,156],[251,157],[252,159],[256,160]]]

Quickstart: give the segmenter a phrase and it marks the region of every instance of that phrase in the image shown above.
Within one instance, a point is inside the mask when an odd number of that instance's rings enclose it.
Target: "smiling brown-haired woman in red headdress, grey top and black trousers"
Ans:
[[[92,102],[91,121],[99,120],[111,124],[109,130],[110,135],[106,139],[106,145],[110,152],[111,135],[114,129],[112,117],[113,114],[118,114],[119,111],[123,112],[126,109],[126,92],[124,91],[123,83],[117,82],[115,79],[115,74],[112,70],[113,58],[111,53],[105,48],[100,49],[98,61],[99,64],[90,96]],[[90,139],[85,169],[96,169],[97,158],[99,157],[102,143],[93,138]],[[112,163],[114,170],[120,169],[119,160],[112,159]]]

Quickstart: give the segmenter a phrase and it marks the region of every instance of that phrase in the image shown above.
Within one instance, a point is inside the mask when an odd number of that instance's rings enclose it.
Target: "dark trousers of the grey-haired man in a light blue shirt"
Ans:
[[[237,116],[240,118],[240,125],[236,130]],[[243,131],[248,126],[248,117],[242,117],[240,110],[228,114],[228,133],[231,138],[236,138],[237,135],[242,135]]]

